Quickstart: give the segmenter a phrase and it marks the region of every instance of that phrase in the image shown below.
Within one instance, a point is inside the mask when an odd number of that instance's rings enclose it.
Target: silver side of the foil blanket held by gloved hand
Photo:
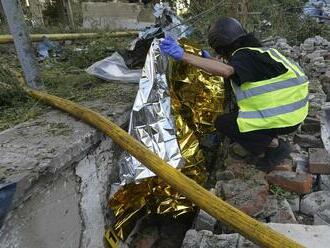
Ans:
[[[184,159],[176,137],[166,78],[168,59],[160,54],[159,42],[157,39],[153,41],[142,70],[131,113],[129,134],[174,168],[182,168]],[[134,157],[123,155],[120,166],[122,185],[153,176],[155,174]]]

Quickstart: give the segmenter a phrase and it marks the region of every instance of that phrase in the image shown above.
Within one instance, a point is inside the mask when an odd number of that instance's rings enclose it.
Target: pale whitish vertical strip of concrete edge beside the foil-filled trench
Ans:
[[[119,149],[119,147],[118,147]],[[107,194],[111,183],[117,181],[119,168],[116,164],[115,145],[105,138],[91,154],[76,167],[80,178],[80,212],[84,223],[81,247],[103,248],[106,223]]]

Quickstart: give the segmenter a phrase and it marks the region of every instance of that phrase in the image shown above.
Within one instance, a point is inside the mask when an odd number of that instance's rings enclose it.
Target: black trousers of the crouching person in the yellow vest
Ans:
[[[277,137],[277,135],[292,133],[296,131],[300,125],[241,133],[236,121],[237,116],[237,112],[219,115],[216,118],[214,125],[220,134],[223,134],[239,143],[254,155],[264,153],[269,144],[274,138]]]

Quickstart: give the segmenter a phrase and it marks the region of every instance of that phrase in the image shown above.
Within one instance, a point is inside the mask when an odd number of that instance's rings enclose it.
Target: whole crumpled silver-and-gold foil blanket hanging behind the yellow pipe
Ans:
[[[182,40],[182,45],[187,52],[201,52],[187,40]],[[213,120],[223,111],[223,103],[224,85],[220,77],[181,62],[168,64],[160,54],[159,41],[155,40],[143,69],[129,133],[186,176],[203,184],[206,170],[199,138],[214,131]],[[125,156],[121,165],[123,187],[109,201],[116,217],[114,232],[120,239],[127,237],[141,216],[157,213],[177,217],[195,209],[190,200],[135,158]]]

